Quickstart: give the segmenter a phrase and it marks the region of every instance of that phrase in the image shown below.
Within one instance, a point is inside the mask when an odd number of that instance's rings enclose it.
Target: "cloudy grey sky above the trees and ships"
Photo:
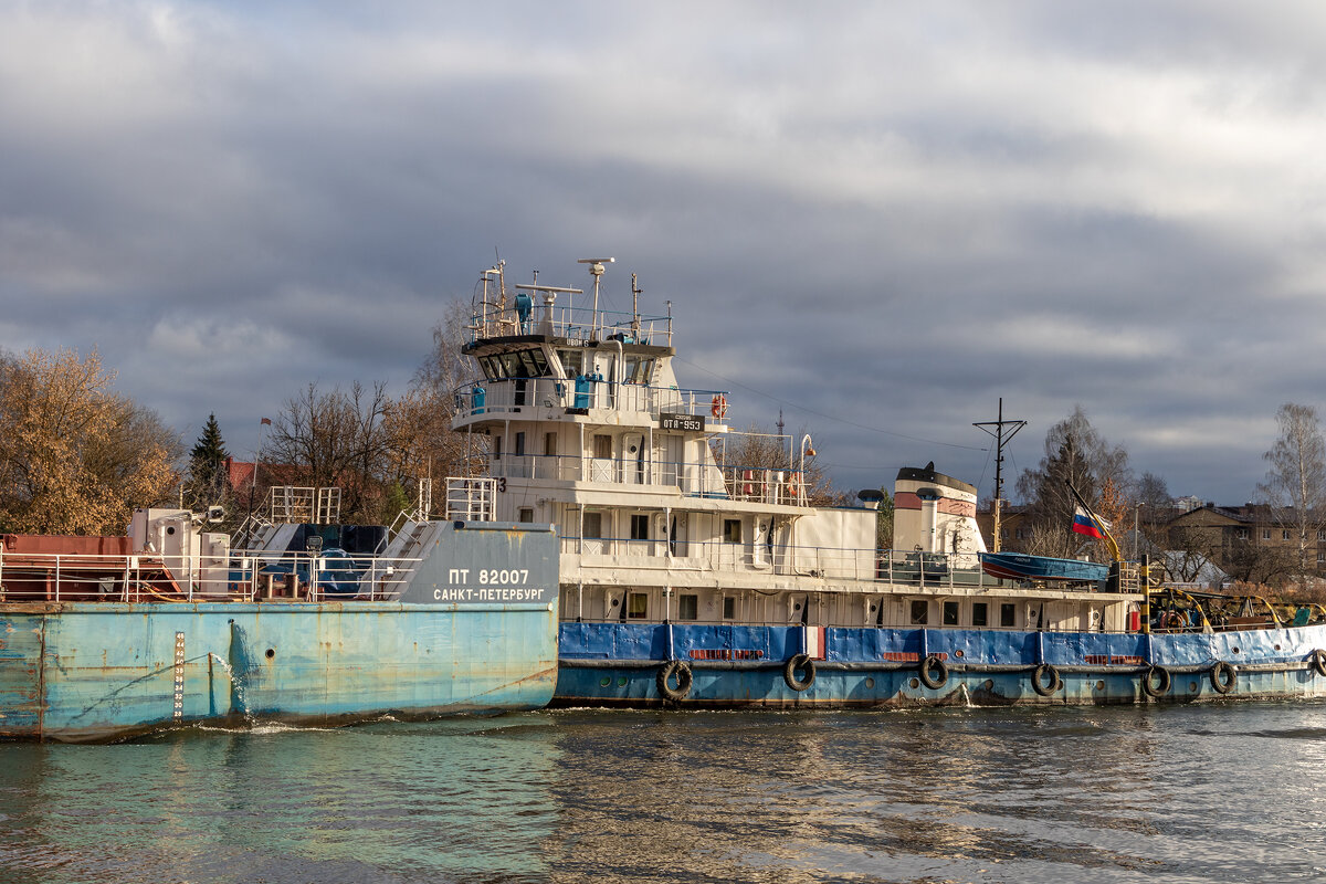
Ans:
[[[400,394],[497,256],[672,302],[678,375],[837,488],[992,493],[1081,407],[1254,500],[1326,411],[1326,7],[0,0],[0,349],[251,457]]]

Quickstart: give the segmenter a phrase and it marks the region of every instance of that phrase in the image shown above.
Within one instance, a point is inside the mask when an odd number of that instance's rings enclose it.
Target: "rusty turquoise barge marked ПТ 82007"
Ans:
[[[264,525],[244,550],[206,527],[149,509],[126,537],[0,535],[0,738],[103,742],[552,698],[549,525],[411,521],[390,542],[361,531],[369,549],[326,525]]]

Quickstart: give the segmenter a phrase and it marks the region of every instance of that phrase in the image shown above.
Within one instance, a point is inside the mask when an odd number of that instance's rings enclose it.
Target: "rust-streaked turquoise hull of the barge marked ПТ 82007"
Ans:
[[[8,604],[0,737],[536,709],[556,618],[556,603]]]

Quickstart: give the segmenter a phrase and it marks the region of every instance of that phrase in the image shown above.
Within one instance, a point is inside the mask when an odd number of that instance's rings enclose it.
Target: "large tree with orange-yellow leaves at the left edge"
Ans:
[[[122,534],[170,501],[179,437],[114,379],[95,350],[0,355],[0,530]]]

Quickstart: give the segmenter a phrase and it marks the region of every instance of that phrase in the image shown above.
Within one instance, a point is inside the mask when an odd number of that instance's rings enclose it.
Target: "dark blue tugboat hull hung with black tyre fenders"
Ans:
[[[1313,664],[1313,652],[1326,648],[1323,626],[1150,636],[827,628],[825,659],[815,661],[812,684],[796,691],[784,669],[804,641],[802,627],[564,623],[553,702],[796,709],[1326,697],[1326,675]],[[935,688],[926,687],[920,672],[931,655],[943,663],[943,671],[926,673],[941,681]],[[680,700],[659,689],[659,672],[670,660],[692,673]],[[1212,673],[1217,663],[1232,667],[1232,683]],[[1037,692],[1033,676],[1042,664],[1053,669],[1040,671]],[[1151,693],[1143,684],[1148,676]],[[805,671],[794,679],[804,681]]]

